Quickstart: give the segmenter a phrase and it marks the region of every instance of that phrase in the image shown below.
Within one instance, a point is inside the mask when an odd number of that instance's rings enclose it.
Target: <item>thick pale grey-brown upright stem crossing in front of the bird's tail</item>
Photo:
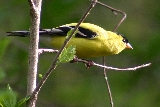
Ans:
[[[28,0],[30,4],[31,27],[27,76],[27,96],[31,96],[34,89],[36,88],[41,1],[42,0]],[[36,101],[37,96],[31,97],[27,102],[27,107],[35,107]]]

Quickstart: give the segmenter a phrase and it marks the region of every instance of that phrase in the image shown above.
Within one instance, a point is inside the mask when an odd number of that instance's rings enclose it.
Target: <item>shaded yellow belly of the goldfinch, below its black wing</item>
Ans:
[[[54,37],[52,39],[52,46],[59,49],[64,43],[64,37]],[[112,53],[102,46],[97,40],[84,39],[84,38],[72,38],[67,47],[70,45],[76,46],[76,55],[79,58],[100,57],[111,55]]]

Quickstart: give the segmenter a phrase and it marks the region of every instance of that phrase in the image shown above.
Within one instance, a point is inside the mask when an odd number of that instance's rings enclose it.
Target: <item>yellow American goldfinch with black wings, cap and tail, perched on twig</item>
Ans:
[[[66,38],[67,33],[74,29],[77,23],[70,23],[51,29],[42,29],[40,33],[40,41],[59,49]],[[12,31],[7,32],[8,36],[28,36],[29,31]],[[76,56],[79,58],[100,57],[118,54],[126,48],[133,49],[126,37],[123,35],[106,31],[103,28],[90,24],[81,23],[75,36],[70,40],[69,44],[76,46]]]

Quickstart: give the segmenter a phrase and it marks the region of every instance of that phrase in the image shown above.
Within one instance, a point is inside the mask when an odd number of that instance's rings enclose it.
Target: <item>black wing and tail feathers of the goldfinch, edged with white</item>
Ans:
[[[39,34],[40,35],[48,35],[48,36],[67,36],[67,33],[74,29],[75,26],[60,26],[53,29],[40,29]],[[7,32],[7,36],[29,36],[30,31],[11,31]],[[97,34],[89,29],[85,29],[83,27],[78,28],[78,32],[75,34],[75,37],[78,38],[88,38],[93,39],[96,37]]]

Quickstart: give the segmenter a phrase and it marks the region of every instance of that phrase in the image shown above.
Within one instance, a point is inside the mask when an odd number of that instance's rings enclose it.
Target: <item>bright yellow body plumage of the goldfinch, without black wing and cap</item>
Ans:
[[[67,24],[66,26],[75,26],[77,23]],[[76,45],[76,55],[79,58],[99,57],[112,54],[118,54],[125,49],[126,44],[122,41],[123,37],[114,32],[106,31],[103,28],[90,24],[82,23],[80,27],[96,32],[97,36],[92,39],[73,37],[69,45]],[[52,46],[59,49],[65,37],[54,36]]]

